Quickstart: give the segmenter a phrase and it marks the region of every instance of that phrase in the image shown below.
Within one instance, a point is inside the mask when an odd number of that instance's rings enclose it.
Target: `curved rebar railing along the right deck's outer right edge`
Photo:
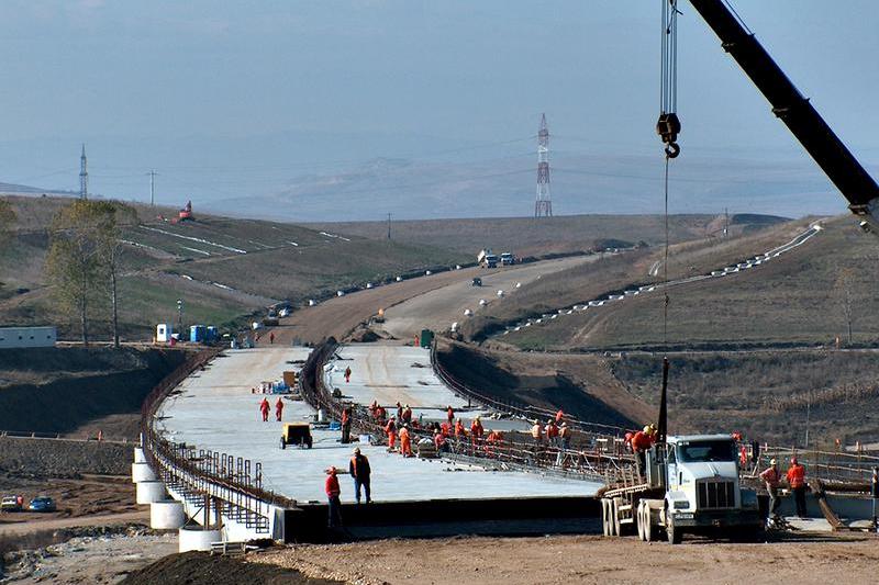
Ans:
[[[541,423],[549,418],[555,419],[556,417],[556,410],[541,408],[538,406],[533,406],[519,401],[510,401],[496,396],[489,396],[485,392],[480,392],[468,386],[466,383],[452,375],[445,365],[443,365],[442,360],[437,356],[436,341],[434,341],[434,344],[431,346],[431,365],[433,367],[437,378],[439,378],[439,380],[442,380],[443,383],[449,387],[449,390],[459,396],[467,398],[468,401],[472,401],[485,406],[486,408],[507,413],[511,416],[526,418],[528,420],[538,420]],[[625,429],[623,427],[580,420],[570,416],[569,414],[565,415],[565,421],[569,427],[576,430],[589,432],[600,437],[622,437],[625,434]]]

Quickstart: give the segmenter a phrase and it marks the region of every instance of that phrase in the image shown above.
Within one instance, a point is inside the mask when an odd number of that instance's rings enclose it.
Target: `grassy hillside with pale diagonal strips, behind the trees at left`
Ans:
[[[69,200],[8,196],[16,213],[12,240],[0,250],[0,323],[57,324],[75,335],[70,316],[54,306],[43,263],[46,227]],[[196,212],[173,224],[174,210],[136,206],[140,224],[123,229],[122,327],[127,338],[148,338],[155,323],[234,326],[270,303],[320,297],[415,269],[449,266],[464,256],[438,247],[375,241],[329,230]],[[94,330],[108,334],[105,315]]]

